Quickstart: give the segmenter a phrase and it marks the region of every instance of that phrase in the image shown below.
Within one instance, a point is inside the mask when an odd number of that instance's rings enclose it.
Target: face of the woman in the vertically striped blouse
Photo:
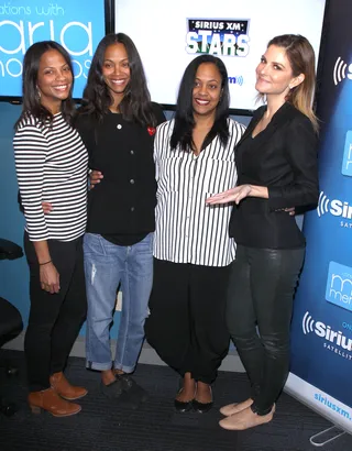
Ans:
[[[196,116],[215,116],[221,97],[221,75],[213,63],[202,63],[196,73],[193,108]]]

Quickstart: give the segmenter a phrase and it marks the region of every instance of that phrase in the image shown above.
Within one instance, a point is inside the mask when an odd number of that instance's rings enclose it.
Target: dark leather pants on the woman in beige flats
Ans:
[[[305,249],[238,245],[231,264],[227,322],[258,415],[271,411],[288,375],[293,298],[304,256]]]

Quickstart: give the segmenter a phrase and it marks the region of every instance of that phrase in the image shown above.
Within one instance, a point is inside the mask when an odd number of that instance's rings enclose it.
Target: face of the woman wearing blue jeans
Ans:
[[[122,98],[131,79],[129,56],[123,44],[116,43],[107,47],[102,77],[112,97]]]

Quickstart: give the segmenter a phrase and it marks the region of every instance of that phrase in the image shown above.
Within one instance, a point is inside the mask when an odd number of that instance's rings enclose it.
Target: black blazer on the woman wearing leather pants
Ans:
[[[288,207],[316,206],[319,197],[317,135],[310,120],[286,102],[252,138],[266,107],[258,108],[235,150],[238,185],[266,186],[268,199],[248,197],[232,210],[230,237],[238,244],[294,249],[305,238]]]

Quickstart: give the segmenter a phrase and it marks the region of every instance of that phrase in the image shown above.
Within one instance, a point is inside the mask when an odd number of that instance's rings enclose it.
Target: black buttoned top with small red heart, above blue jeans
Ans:
[[[153,103],[153,111],[157,123],[165,121],[157,103]],[[155,230],[155,128],[111,112],[98,124],[79,114],[76,127],[88,150],[89,167],[103,174],[88,195],[87,232],[116,244],[134,244]]]

